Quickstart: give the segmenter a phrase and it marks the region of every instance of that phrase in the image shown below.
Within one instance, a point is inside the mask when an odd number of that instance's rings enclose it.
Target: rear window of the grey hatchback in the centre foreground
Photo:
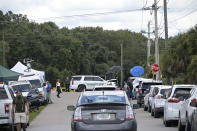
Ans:
[[[82,96],[79,105],[92,104],[92,103],[124,103],[126,104],[125,96],[118,95],[93,95]]]

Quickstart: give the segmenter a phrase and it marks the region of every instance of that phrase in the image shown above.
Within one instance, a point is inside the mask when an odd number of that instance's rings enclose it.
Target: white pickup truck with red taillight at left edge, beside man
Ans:
[[[13,90],[0,82],[0,126],[9,127],[9,130],[15,126],[11,115],[14,97]],[[29,123],[29,116],[27,116],[26,123]]]

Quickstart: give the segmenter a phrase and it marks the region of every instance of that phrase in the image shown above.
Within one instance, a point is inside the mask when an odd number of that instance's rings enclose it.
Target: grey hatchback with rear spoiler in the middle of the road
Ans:
[[[124,91],[83,92],[77,106],[67,109],[74,110],[72,131],[137,131],[135,114]]]

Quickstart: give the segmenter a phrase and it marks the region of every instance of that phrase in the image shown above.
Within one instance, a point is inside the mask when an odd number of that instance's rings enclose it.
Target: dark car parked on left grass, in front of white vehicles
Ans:
[[[30,110],[38,109],[42,103],[43,96],[38,89],[31,89],[27,95]]]

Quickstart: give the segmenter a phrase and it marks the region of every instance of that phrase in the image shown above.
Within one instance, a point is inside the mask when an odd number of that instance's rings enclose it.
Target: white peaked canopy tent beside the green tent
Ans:
[[[12,67],[10,70],[21,73],[21,74],[25,74],[25,73],[27,73],[27,66],[23,65],[20,61],[18,61],[16,63],[16,65],[14,67]],[[45,72],[44,71],[38,71],[38,70],[31,69],[30,73],[39,74],[40,77],[43,80],[45,80]]]

